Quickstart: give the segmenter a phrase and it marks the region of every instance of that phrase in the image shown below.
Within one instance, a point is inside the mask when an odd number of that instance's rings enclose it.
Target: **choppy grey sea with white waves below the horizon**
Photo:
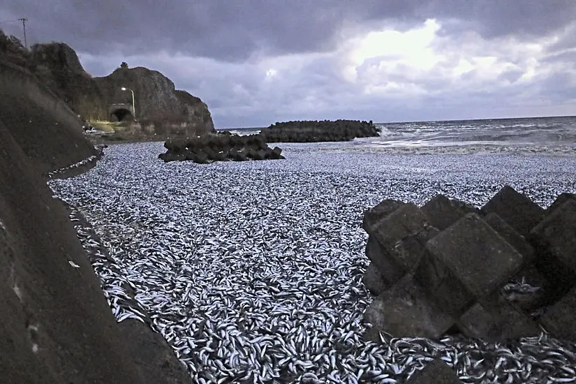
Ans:
[[[410,154],[539,153],[576,156],[576,117],[378,123],[379,138],[353,141],[358,152]],[[260,128],[232,129],[249,135]],[[338,143],[320,145],[337,150]],[[350,147],[347,148],[350,150]]]

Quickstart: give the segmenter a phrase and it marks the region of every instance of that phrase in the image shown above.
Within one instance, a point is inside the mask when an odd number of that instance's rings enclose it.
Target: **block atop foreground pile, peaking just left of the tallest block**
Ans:
[[[445,230],[465,214],[480,213],[478,208],[445,195],[434,196],[421,209],[428,216],[429,223],[438,230]]]

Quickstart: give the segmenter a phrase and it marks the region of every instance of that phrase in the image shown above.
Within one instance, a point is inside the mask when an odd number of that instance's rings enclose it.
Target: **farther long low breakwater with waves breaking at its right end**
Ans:
[[[372,121],[324,120],[276,123],[263,128],[260,134],[267,142],[324,142],[378,137],[380,131]]]

